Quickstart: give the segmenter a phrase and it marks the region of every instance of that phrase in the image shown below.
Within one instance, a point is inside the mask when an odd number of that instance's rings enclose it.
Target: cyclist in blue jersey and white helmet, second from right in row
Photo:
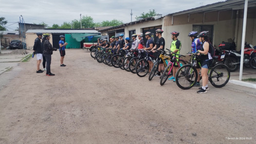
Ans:
[[[199,38],[196,38],[198,36],[198,32],[189,32],[188,36],[189,36],[190,40],[192,41],[192,44],[191,44],[192,52],[195,53],[195,52],[197,52],[197,50],[200,50],[201,42],[200,42]],[[196,69],[198,72],[198,80],[194,86],[199,87],[200,86],[200,73],[199,73],[200,66],[198,63],[195,64],[195,66],[196,66]]]

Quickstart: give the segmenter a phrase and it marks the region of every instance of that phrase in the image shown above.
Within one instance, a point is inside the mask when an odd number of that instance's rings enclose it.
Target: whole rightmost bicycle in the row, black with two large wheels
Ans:
[[[195,64],[199,62],[199,56],[194,53],[191,54],[192,58],[194,59],[191,64],[185,64],[180,67],[176,73],[176,84],[179,88],[183,90],[187,90],[192,88],[197,79],[198,79],[198,72],[196,70]],[[230,70],[225,64],[215,64],[217,57],[213,57],[213,62],[209,66],[208,70],[208,80],[214,87],[220,88],[225,86],[230,79]],[[201,67],[201,64],[198,63]]]

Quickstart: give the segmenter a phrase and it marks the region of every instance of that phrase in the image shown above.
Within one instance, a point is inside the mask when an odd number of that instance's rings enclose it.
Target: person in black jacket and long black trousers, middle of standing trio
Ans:
[[[51,73],[51,61],[52,61],[52,54],[53,50],[57,50],[56,48],[53,48],[53,45],[50,43],[50,34],[44,33],[43,34],[43,55],[46,59],[46,76],[55,76],[55,74]]]

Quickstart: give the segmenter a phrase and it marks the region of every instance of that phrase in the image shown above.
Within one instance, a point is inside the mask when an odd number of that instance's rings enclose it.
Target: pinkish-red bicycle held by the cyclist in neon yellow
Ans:
[[[169,61],[168,65],[165,67],[165,71],[163,72],[163,75],[160,80],[160,85],[164,85],[166,80],[169,78],[169,76],[172,75],[172,68],[173,68],[174,64],[178,64],[178,67],[181,67],[182,65],[186,64],[186,62],[180,58],[180,57],[185,57],[184,55],[174,53],[171,50],[168,50],[168,51],[172,52],[174,54],[174,56],[172,57],[172,60]],[[178,57],[176,57],[177,55],[178,55]]]

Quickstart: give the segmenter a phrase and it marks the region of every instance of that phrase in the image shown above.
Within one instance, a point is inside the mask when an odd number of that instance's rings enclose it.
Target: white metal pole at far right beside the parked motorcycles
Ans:
[[[241,46],[241,60],[240,60],[239,80],[242,80],[242,75],[243,75],[243,54],[244,54],[245,32],[246,32],[247,6],[248,6],[248,0],[244,0],[243,34],[242,34],[242,46]]]

